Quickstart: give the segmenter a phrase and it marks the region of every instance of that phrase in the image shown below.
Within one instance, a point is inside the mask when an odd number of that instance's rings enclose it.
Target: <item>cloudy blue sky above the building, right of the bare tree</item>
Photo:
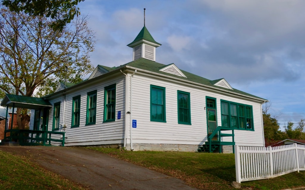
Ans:
[[[145,26],[162,44],[156,61],[268,99],[281,129],[305,119],[305,1],[148,0],[79,4],[96,33],[91,63],[132,60],[127,47]],[[295,127],[297,124],[294,125]]]

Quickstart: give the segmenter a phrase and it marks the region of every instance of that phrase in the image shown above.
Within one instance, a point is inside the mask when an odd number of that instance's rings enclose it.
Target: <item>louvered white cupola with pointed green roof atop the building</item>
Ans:
[[[145,59],[156,61],[156,47],[161,46],[161,44],[153,39],[152,35],[144,26],[135,40],[127,46],[132,47],[132,60],[137,60],[138,58],[143,57]]]

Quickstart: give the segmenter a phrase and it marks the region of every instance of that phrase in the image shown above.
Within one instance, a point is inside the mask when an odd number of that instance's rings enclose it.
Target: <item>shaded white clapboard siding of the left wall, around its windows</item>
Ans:
[[[114,122],[103,123],[104,115],[104,87],[116,83],[116,120]],[[64,96],[49,99],[54,105],[61,102],[60,123],[65,123],[67,128],[59,131],[66,132],[65,146],[70,145],[94,145],[94,144],[111,144],[123,143],[124,139],[124,95],[125,95],[125,77],[112,78],[108,81],[96,81],[95,85],[87,85],[77,89],[73,93],[66,94],[65,108],[63,108]],[[87,92],[97,90],[97,107],[96,107],[96,123],[86,126],[87,111]],[[72,98],[81,95],[81,113],[80,126],[71,128],[72,118]],[[50,109],[48,130],[52,130],[53,108]],[[63,117],[64,109],[64,117]],[[117,112],[121,111],[121,119],[117,119]],[[109,143],[110,142],[110,143]]]

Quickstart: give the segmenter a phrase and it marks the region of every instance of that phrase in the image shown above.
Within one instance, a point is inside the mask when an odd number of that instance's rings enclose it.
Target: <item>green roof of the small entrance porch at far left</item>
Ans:
[[[1,102],[1,106],[26,109],[41,109],[44,107],[52,107],[52,104],[43,98],[6,94]]]

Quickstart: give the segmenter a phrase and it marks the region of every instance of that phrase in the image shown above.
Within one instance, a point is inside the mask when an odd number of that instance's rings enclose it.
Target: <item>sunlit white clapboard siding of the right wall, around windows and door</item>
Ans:
[[[166,88],[166,123],[150,121],[150,85]],[[178,124],[177,90],[190,92],[192,125]],[[132,119],[137,120],[137,128],[132,129],[133,143],[203,144],[207,140],[206,96],[216,98],[218,126],[221,126],[221,99],[252,105],[254,131],[235,130],[235,142],[264,146],[259,103],[140,74],[133,77]]]

